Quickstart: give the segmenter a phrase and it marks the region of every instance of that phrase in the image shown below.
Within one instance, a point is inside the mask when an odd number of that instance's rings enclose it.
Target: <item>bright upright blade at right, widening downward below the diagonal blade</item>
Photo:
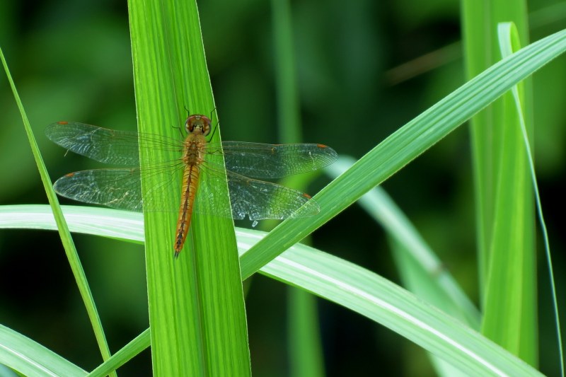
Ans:
[[[520,45],[516,35],[517,46]],[[517,47],[519,48],[519,47]],[[521,108],[525,100],[523,83]],[[538,364],[536,248],[529,162],[512,92],[492,109],[498,137],[494,145],[495,192],[482,332],[509,352]],[[495,122],[497,120],[497,122]],[[497,124],[496,124],[497,123]],[[532,122],[529,120],[532,132]]]

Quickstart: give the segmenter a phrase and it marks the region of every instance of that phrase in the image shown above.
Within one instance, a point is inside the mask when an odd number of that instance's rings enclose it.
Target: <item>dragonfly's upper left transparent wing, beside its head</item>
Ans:
[[[64,149],[114,165],[139,166],[140,142],[144,148],[183,151],[183,144],[175,139],[78,122],[52,123],[45,134]]]

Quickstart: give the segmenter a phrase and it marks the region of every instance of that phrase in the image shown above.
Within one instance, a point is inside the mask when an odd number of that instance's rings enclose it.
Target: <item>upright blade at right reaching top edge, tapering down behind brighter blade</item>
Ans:
[[[521,25],[521,40],[528,43],[526,2],[516,1],[462,1],[463,47],[466,77],[472,79],[499,61],[497,47],[497,23],[514,21]],[[475,115],[471,120],[472,158],[475,181],[476,231],[478,232],[478,257],[480,287],[483,287],[489,265],[492,240],[495,191],[497,185],[499,143],[502,127],[499,115],[502,100]],[[484,294],[484,290],[480,289]]]

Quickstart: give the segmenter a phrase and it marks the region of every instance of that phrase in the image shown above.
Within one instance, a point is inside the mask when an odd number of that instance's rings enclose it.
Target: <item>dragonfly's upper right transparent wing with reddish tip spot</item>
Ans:
[[[323,144],[258,144],[245,141],[207,144],[207,153],[222,151],[227,170],[253,178],[281,178],[306,173],[324,168],[337,158],[334,149]]]

